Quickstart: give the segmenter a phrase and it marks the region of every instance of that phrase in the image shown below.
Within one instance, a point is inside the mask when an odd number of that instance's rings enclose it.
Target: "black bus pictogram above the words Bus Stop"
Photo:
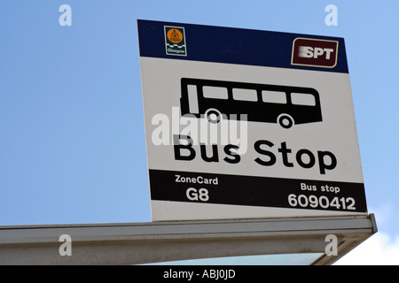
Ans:
[[[248,121],[278,123],[285,128],[323,120],[314,88],[189,78],[182,78],[181,87],[182,115],[202,115],[211,123],[234,118],[231,114],[246,114]]]

